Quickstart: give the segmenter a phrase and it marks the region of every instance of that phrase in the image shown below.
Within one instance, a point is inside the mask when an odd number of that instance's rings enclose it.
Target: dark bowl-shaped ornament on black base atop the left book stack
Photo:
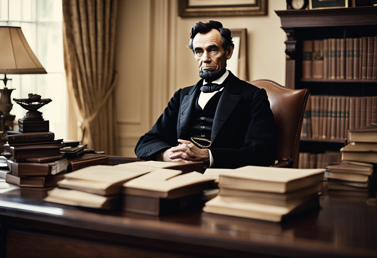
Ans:
[[[28,110],[25,117],[18,119],[20,132],[48,132],[49,120],[44,120],[42,112],[37,109],[50,103],[50,98],[41,98],[38,94],[29,93],[29,98],[13,98],[22,108]]]

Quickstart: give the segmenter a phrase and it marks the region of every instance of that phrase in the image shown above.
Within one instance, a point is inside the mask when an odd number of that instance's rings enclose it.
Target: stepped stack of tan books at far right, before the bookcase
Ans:
[[[377,125],[351,129],[348,137],[351,142],[340,149],[342,163],[327,167],[328,187],[367,193],[375,185],[373,167],[377,163]]]

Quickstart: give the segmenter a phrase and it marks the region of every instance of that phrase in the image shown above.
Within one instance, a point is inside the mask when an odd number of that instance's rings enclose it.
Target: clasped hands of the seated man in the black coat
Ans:
[[[191,141],[178,139],[179,145],[171,147],[158,154],[157,160],[164,162],[207,162],[210,159],[209,152],[206,149],[199,149]]]

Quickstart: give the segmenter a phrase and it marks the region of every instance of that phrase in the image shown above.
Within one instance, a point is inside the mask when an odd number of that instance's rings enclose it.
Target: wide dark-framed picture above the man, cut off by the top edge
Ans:
[[[267,15],[267,0],[178,0],[181,17]]]

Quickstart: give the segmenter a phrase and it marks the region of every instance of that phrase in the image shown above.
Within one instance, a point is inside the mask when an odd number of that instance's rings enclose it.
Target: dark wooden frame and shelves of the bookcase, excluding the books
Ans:
[[[303,78],[304,41],[377,36],[377,6],[275,11],[287,34],[285,85],[310,89],[311,95],[377,96],[377,80],[346,78]],[[361,56],[361,54],[360,54]],[[361,71],[361,68],[360,68]],[[361,76],[360,76],[361,77]],[[362,117],[360,113],[360,117]],[[313,123],[313,121],[311,122]],[[314,122],[316,123],[316,122]],[[346,135],[343,133],[342,135]],[[336,139],[301,137],[300,152],[322,154],[345,146],[346,137]],[[339,152],[340,153],[340,152]],[[301,156],[300,156],[301,158]]]

